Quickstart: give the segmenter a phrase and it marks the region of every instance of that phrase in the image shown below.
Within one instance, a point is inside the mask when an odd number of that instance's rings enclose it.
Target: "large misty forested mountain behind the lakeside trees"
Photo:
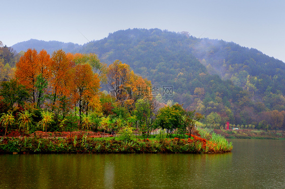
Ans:
[[[55,52],[59,48],[53,49],[49,43],[32,46],[22,42],[13,47],[21,45],[19,52],[27,48]],[[5,48],[2,45],[2,52]],[[15,63],[24,54],[11,48],[9,52],[13,54],[9,60],[1,53],[2,81],[13,78]],[[256,49],[197,39],[188,32],[128,29],[83,46],[69,44],[68,52],[95,53],[105,67],[120,60],[152,85],[172,85],[174,95],[168,98],[173,104],[178,102],[184,109],[204,115],[202,122],[208,127],[221,128],[227,121],[238,128],[284,127],[285,64]],[[101,90],[112,90],[106,87],[106,80],[101,79]]]

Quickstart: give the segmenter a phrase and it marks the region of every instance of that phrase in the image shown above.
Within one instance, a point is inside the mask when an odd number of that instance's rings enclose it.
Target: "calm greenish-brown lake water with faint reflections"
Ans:
[[[285,188],[285,141],[226,154],[0,155],[0,188]]]

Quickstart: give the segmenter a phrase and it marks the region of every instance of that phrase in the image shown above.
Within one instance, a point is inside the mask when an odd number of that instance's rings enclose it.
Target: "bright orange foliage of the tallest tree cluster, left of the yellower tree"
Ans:
[[[88,108],[89,100],[98,94],[97,69],[103,68],[103,64],[95,54],[66,54],[58,50],[50,56],[45,50],[38,53],[28,49],[16,67],[15,77],[31,92],[30,101],[64,115],[77,105],[80,112]]]

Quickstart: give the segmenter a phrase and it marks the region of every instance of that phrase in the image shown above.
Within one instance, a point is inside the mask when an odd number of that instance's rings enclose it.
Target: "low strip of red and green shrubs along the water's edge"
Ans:
[[[215,138],[215,137],[213,137]],[[168,139],[157,135],[154,138],[139,137],[94,138],[87,135],[74,137],[9,137],[1,138],[2,154],[51,154],[51,153],[225,153],[232,149],[213,139],[191,135],[188,139]]]

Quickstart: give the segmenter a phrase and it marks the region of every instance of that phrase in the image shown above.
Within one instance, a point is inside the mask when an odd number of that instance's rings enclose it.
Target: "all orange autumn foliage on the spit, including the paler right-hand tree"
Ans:
[[[100,111],[100,83],[105,83],[115,101],[128,110],[144,97],[141,86],[151,82],[116,60],[108,67],[95,54],[71,54],[57,50],[49,55],[28,49],[16,64],[15,78],[30,92],[34,107],[49,109],[63,118],[75,107],[79,116]]]

